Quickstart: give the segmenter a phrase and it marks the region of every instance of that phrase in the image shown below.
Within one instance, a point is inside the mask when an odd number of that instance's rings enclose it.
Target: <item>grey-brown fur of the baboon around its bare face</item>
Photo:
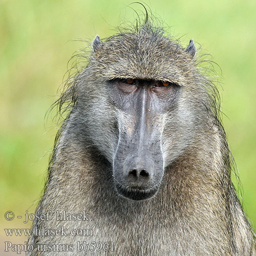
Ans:
[[[35,228],[93,230],[92,237],[34,236],[27,255],[255,255],[254,234],[230,180],[231,156],[219,121],[218,92],[197,67],[194,44],[184,49],[150,22],[94,41],[84,66],[58,103],[70,110],[56,139],[45,192],[37,207],[51,210]],[[181,86],[177,106],[161,116],[164,177],[142,201],[120,197],[112,164],[120,111],[108,80],[140,78]],[[62,107],[62,108],[61,108]],[[158,118],[158,117],[156,117]],[[160,119],[159,119],[160,120]],[[54,220],[55,212],[89,213],[90,221]],[[74,244],[73,251],[38,252],[37,244]],[[77,252],[76,242],[112,241],[112,252]]]

